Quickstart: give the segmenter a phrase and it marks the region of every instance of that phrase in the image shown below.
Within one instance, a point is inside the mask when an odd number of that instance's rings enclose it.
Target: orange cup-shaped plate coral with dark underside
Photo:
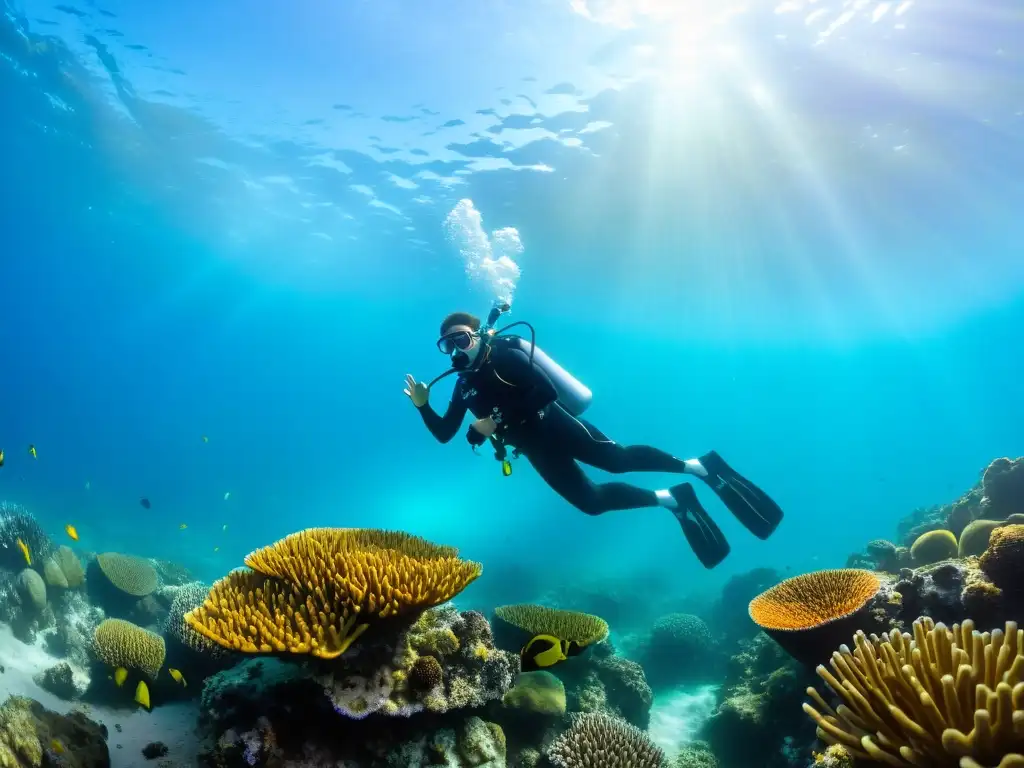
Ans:
[[[859,568],[786,579],[751,601],[751,618],[794,658],[817,664],[857,629],[872,628],[865,607],[882,586]]]

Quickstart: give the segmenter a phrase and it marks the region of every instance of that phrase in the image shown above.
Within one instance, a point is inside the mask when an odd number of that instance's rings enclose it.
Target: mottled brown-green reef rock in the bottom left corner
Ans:
[[[38,701],[9,696],[0,707],[0,766],[109,768],[100,726],[82,713],[58,715]]]

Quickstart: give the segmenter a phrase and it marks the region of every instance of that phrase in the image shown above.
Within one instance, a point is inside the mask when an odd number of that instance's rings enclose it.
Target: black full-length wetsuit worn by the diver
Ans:
[[[475,371],[459,374],[444,416],[430,403],[420,409],[427,428],[441,442],[455,437],[467,411],[477,419],[494,417],[496,435],[525,456],[557,494],[589,515],[655,507],[658,500],[652,490],[625,482],[595,483],[578,461],[614,473],[685,473],[681,459],[649,445],[620,445],[565,411],[556,402],[551,379],[517,346],[496,340],[481,353],[487,357]]]

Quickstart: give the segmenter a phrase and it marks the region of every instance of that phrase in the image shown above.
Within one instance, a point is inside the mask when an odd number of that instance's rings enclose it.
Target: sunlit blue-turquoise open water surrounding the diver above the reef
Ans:
[[[1024,453],[1024,18],[818,5],[5,0],[0,498],[207,580],[400,528],[482,561],[483,602],[710,595],[955,499]],[[486,311],[462,251],[505,227],[511,316],[588,417],[722,453],[784,508],[770,541],[698,488],[709,572],[664,510],[591,518],[434,442],[403,377]]]

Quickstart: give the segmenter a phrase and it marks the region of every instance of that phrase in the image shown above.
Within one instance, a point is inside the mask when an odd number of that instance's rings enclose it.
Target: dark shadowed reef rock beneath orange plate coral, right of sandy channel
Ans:
[[[729,659],[719,707],[700,729],[721,768],[787,768],[786,734],[810,743],[814,733],[800,714],[804,690],[814,673],[767,635],[742,643]]]

